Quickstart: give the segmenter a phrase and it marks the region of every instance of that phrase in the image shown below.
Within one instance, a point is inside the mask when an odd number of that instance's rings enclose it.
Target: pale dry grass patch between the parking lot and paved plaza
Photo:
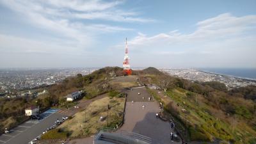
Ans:
[[[70,132],[70,137],[77,138],[95,134],[100,127],[108,126],[108,121],[109,126],[113,127],[122,122],[124,102],[124,98],[116,97],[104,97],[95,100],[84,111],[76,113],[74,118],[61,124],[60,129]],[[111,107],[109,118],[108,104]],[[100,116],[103,117],[102,122],[100,122]]]

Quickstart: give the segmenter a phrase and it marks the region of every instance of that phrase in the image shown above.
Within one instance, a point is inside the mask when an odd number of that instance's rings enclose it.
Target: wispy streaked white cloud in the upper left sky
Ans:
[[[60,41],[76,47],[90,47],[95,43],[95,35],[115,31],[131,31],[131,28],[109,26],[108,24],[86,22],[79,19],[101,19],[114,21],[138,21],[147,19],[134,17],[137,13],[118,10],[123,1],[17,1],[3,0],[4,4],[33,26],[54,33]],[[52,35],[51,37],[54,37]],[[63,42],[61,42],[63,43]]]

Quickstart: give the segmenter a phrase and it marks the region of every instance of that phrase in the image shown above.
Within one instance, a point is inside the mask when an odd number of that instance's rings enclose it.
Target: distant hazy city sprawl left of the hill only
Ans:
[[[0,70],[0,97],[38,96],[47,92],[46,86],[59,83],[66,77],[90,74],[97,69],[2,69]]]

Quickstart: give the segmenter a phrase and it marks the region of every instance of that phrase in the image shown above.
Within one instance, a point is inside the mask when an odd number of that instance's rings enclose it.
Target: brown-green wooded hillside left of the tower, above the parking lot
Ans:
[[[24,116],[24,109],[31,105],[38,105],[41,109],[50,108],[51,106],[64,106],[65,96],[68,93],[77,90],[84,90],[88,98],[109,92],[113,88],[109,84],[111,73],[115,76],[123,76],[120,67],[105,67],[92,72],[86,76],[77,74],[74,77],[67,77],[61,83],[53,84],[47,88],[49,93],[40,95],[40,97],[24,97],[15,99],[0,99],[0,133],[4,128],[10,128],[24,120],[28,119]],[[36,103],[37,101],[37,103]]]

